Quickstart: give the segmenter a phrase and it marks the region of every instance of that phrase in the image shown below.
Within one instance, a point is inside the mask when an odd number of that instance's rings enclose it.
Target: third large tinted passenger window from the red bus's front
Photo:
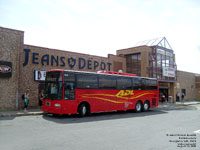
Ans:
[[[117,78],[117,89],[126,90],[132,89],[132,81],[131,78]]]

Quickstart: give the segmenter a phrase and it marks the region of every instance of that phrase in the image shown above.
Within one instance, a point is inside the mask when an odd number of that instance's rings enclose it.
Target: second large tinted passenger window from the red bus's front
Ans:
[[[113,76],[99,76],[100,89],[116,89],[116,78]]]

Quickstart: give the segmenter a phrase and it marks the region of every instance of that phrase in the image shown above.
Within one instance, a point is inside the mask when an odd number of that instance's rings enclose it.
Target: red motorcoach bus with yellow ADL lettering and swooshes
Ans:
[[[158,106],[156,79],[123,73],[51,70],[46,73],[42,110],[52,114],[79,114]]]

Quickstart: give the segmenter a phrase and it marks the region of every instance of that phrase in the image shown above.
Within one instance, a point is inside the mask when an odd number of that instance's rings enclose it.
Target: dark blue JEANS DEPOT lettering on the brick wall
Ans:
[[[108,70],[111,69],[111,63],[99,62],[96,60],[85,59],[83,57],[73,58],[65,56],[55,56],[44,54],[40,56],[39,53],[31,52],[30,49],[24,49],[25,60],[23,66],[27,66],[29,63],[42,66],[57,66],[57,67],[69,67],[73,69],[78,67],[79,70]],[[40,57],[39,57],[40,56]],[[32,61],[30,61],[32,60]]]

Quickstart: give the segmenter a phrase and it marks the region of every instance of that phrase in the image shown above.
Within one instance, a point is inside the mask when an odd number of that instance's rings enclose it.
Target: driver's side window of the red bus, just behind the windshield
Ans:
[[[64,99],[73,100],[75,99],[75,86],[74,82],[66,82],[64,84]]]

